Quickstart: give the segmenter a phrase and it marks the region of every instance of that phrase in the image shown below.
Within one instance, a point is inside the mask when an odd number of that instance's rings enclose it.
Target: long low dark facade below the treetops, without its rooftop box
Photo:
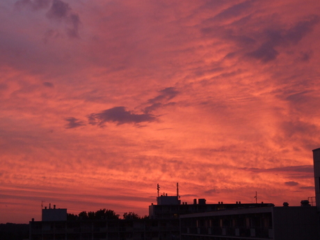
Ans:
[[[30,222],[32,240],[179,239],[179,221],[101,219]]]

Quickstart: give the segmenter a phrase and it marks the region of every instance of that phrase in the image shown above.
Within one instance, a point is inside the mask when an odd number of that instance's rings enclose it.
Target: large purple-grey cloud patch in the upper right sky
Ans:
[[[274,61],[280,55],[282,49],[297,45],[319,23],[320,17],[318,15],[310,15],[289,28],[281,25],[275,27],[270,24],[270,26],[260,28],[261,30],[258,30],[258,32],[239,31],[238,29],[241,29],[243,25],[255,21],[249,13],[253,2],[239,3],[223,10],[215,17],[203,21],[200,32],[209,38],[223,38],[230,42],[236,42],[241,49],[239,52],[242,52],[244,56],[255,58],[262,63],[268,63]],[[232,23],[228,22],[229,19],[234,17],[241,17],[241,19]],[[261,24],[263,26],[264,22],[261,22]],[[308,55],[303,57],[308,59]]]

